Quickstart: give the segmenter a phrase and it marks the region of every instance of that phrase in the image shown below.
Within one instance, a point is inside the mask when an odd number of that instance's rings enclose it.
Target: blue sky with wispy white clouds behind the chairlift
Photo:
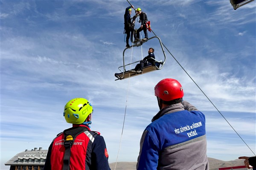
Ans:
[[[154,33],[255,153],[255,1],[237,10],[229,0],[130,2],[147,14]],[[110,163],[116,161],[127,105],[118,161],[137,161],[143,130],[159,111],[154,86],[164,78],[180,81],[184,99],[205,114],[208,157],[253,156],[166,50],[162,70],[115,81],[125,49],[126,0],[0,0],[0,5],[0,169],[9,169],[4,163],[16,153],[48,149],[56,134],[71,126],[62,113],[76,97],[92,103],[91,129],[104,136]],[[125,62],[145,57],[149,47],[163,60],[152,39],[126,50]]]

